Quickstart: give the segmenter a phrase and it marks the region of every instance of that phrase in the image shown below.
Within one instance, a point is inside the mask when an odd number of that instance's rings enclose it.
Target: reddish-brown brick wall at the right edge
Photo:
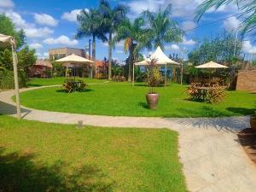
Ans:
[[[242,70],[238,73],[236,90],[256,91],[256,70]]]

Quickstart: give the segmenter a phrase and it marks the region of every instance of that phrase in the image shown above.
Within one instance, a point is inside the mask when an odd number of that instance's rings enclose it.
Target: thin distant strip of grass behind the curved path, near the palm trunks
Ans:
[[[77,78],[77,79],[83,79],[83,78]],[[65,80],[64,77],[57,77],[53,79],[30,79],[27,85],[29,87],[56,85],[56,84],[63,84],[64,80]],[[87,84],[113,84],[114,83],[114,82],[109,82],[107,79],[84,78],[83,80]],[[127,83],[127,82],[124,82],[124,83]]]

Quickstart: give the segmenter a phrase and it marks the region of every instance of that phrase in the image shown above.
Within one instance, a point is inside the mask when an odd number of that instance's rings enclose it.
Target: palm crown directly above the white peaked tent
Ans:
[[[151,28],[151,39],[154,49],[160,46],[164,49],[164,43],[182,41],[183,31],[178,28],[177,22],[170,18],[172,6],[169,4],[164,11],[157,13],[143,11],[143,18],[148,21]]]

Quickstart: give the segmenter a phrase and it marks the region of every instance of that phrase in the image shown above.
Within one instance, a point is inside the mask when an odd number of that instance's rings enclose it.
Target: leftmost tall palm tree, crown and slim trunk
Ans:
[[[79,22],[78,32],[75,38],[92,37],[92,60],[96,61],[96,38],[101,39],[103,42],[108,41],[105,36],[107,29],[102,22],[102,15],[97,9],[90,9],[89,11],[82,10],[77,17]],[[95,65],[93,68],[95,73]]]

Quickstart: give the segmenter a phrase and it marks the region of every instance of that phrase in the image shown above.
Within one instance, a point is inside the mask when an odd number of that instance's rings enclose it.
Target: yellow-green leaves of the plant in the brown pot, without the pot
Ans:
[[[158,67],[155,66],[156,60],[148,61],[148,71],[146,73],[146,82],[148,85],[148,93],[154,93],[154,87],[160,86],[163,82],[163,76]]]

